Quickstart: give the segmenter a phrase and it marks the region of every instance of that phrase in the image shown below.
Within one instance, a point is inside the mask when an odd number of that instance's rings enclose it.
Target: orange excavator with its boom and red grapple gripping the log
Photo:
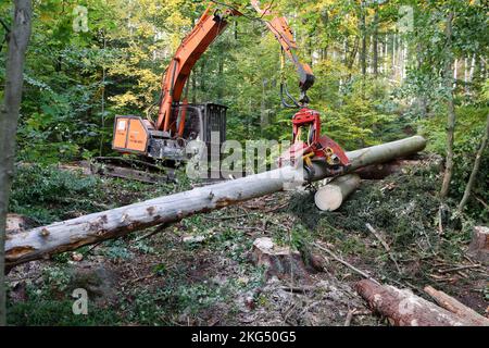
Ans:
[[[325,161],[331,174],[342,173],[348,167],[349,160],[335,141],[321,135],[319,113],[308,108],[310,100],[306,92],[314,84],[314,74],[308,64],[299,61],[298,47],[287,20],[275,15],[271,7],[262,10],[258,0],[251,0],[251,4],[281,46],[281,66],[284,67],[285,57],[288,57],[299,74],[299,101],[288,91],[285,78],[280,83],[283,104],[300,111],[292,117],[294,144],[280,158],[279,163],[294,162],[300,157],[304,159],[306,169],[311,167],[312,160]],[[162,80],[158,120],[153,122],[139,116],[116,116],[113,149],[154,160],[178,162],[188,160],[188,141],[199,139],[209,146],[213,132],[220,133],[220,145],[226,140],[227,108],[215,103],[190,104],[183,99],[183,92],[193,65],[213,40],[225,30],[227,20],[240,15],[242,14],[233,8],[220,12],[211,5],[205,10],[166,69]],[[304,127],[309,127],[308,139],[301,141],[300,134]]]

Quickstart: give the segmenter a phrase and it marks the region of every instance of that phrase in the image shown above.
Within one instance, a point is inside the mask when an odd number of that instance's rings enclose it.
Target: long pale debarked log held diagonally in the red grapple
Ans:
[[[351,151],[347,153],[352,163],[350,171],[415,153],[423,150],[425,146],[426,140],[415,136]],[[5,261],[9,266],[13,266],[49,254],[123,236],[134,231],[179,221],[192,214],[212,211],[300,185],[303,175],[302,169],[286,166],[10,234],[5,246]],[[314,176],[310,179],[318,181],[326,176],[327,171],[324,166],[315,163]]]

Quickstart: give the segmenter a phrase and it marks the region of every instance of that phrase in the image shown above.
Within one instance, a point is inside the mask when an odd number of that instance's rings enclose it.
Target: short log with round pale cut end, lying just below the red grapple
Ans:
[[[321,187],[314,195],[314,202],[319,210],[335,211],[341,207],[344,199],[360,185],[360,176],[347,174],[335,178]]]

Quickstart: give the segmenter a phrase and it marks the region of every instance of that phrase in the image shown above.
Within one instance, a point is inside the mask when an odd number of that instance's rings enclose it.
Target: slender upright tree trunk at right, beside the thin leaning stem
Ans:
[[[440,198],[444,199],[448,196],[450,189],[450,182],[452,181],[453,175],[453,141],[454,141],[454,133],[455,133],[455,105],[453,102],[453,79],[452,79],[452,21],[453,21],[453,12],[451,12],[447,18],[447,49],[449,50],[448,58],[446,58],[444,63],[444,79],[446,79],[446,88],[449,90],[448,96],[448,124],[447,124],[447,164],[444,170],[443,183],[441,185]]]

